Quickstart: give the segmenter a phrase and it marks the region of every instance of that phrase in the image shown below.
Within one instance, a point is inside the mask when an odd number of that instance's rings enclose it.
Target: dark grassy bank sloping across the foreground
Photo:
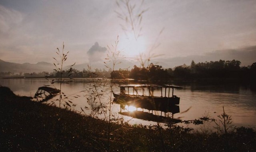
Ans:
[[[256,132],[200,134],[172,126],[108,124],[68,109],[32,102],[0,86],[0,151],[255,152]]]

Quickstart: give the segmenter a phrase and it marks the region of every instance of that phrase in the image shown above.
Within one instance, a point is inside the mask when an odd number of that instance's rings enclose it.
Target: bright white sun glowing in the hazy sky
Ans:
[[[146,40],[144,36],[135,38],[133,33],[129,33],[120,37],[118,46],[125,55],[134,57],[146,51]]]

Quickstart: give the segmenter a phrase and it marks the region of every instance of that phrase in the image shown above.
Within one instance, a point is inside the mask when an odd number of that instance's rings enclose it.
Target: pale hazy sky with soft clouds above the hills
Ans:
[[[94,64],[118,40],[127,60],[256,62],[256,0],[130,0],[131,16],[125,2],[0,0],[0,59],[52,63],[64,42],[66,64]]]

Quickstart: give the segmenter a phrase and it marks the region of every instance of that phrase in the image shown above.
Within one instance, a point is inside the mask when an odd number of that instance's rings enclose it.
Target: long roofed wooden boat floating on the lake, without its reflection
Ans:
[[[120,104],[121,107],[128,105],[136,108],[169,112],[173,108],[173,105],[180,104],[180,98],[173,94],[174,88],[181,89],[182,87],[180,86],[130,84],[119,87],[120,94],[113,92],[113,95],[115,97],[114,102]],[[171,95],[170,89],[172,89]],[[161,96],[154,96],[154,90],[160,91]],[[159,95],[160,92],[158,92]]]

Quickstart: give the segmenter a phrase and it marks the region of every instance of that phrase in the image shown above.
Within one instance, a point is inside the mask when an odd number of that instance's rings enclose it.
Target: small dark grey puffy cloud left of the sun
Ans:
[[[89,62],[98,62],[102,61],[102,56],[105,54],[107,48],[99,46],[98,42],[95,42],[95,44],[88,50],[88,58]]]

